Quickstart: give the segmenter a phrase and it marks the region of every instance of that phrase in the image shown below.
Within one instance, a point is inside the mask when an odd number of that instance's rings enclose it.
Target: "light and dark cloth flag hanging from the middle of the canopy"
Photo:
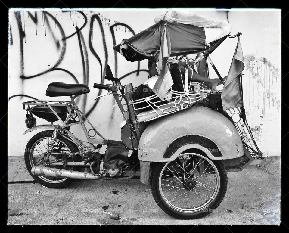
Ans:
[[[171,42],[169,39],[169,32],[167,30],[167,23],[165,23],[160,42],[159,60],[157,62],[157,72],[160,73],[160,76],[158,77],[153,88],[154,93],[156,93],[161,100],[165,98],[167,91],[174,84],[169,70],[169,64],[166,61],[166,58],[169,57],[170,54]]]

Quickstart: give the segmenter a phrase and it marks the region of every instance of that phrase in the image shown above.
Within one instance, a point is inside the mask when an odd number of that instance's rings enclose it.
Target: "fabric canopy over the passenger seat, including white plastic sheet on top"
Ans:
[[[216,20],[191,12],[167,12],[155,18],[155,24],[129,39],[124,39],[113,49],[127,61],[152,59],[158,61],[161,38],[166,26],[170,39],[170,56],[212,53],[231,32],[225,20]]]

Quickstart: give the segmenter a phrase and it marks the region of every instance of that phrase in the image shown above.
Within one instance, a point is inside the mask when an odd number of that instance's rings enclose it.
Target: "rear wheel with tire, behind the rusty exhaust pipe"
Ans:
[[[64,188],[64,187],[67,187],[68,185],[70,185],[70,183],[73,181],[73,179],[67,179],[67,178],[58,179],[58,178],[51,178],[51,177],[44,177],[44,176],[34,176],[31,173],[32,167],[39,165],[39,163],[42,161],[41,160],[42,156],[39,153],[39,151],[40,150],[42,151],[44,148],[47,150],[49,138],[52,138],[52,133],[53,133],[52,130],[42,131],[42,132],[39,132],[36,135],[34,135],[29,140],[29,142],[26,145],[25,154],[24,154],[25,165],[26,165],[26,168],[29,171],[30,175],[39,184],[41,184],[45,187],[48,187],[48,188]],[[77,148],[77,146],[73,142],[62,137],[61,135],[58,135],[58,137],[56,138],[55,144],[57,144],[58,142],[61,142],[62,144],[64,144],[64,147],[59,147],[59,150],[61,150],[61,148],[67,147],[67,149],[70,152],[79,153],[79,149]],[[38,149],[38,150],[36,150],[36,149]],[[43,153],[43,151],[41,153]],[[38,158],[36,156],[34,157],[34,155],[38,156]],[[49,159],[51,159],[51,160],[52,159],[58,159],[58,158],[60,158],[60,157],[57,157],[57,158],[53,157],[52,154],[49,157]],[[34,162],[33,160],[36,160],[36,159],[37,159],[37,161]],[[72,158],[67,158],[67,162],[72,162],[72,161],[77,162],[80,159],[81,159],[80,156],[75,155]],[[71,166],[66,166],[66,167],[64,167],[64,166],[51,166],[51,167],[54,167],[54,168],[56,167],[56,168],[60,168],[60,169],[71,169],[73,171],[79,171],[80,170],[79,166],[73,166],[73,167],[71,167]]]

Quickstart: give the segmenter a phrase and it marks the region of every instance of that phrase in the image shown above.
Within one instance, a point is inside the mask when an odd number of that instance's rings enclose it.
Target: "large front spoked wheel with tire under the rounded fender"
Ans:
[[[227,182],[222,162],[196,153],[158,163],[151,173],[155,201],[179,219],[197,219],[215,210],[225,196]]]

